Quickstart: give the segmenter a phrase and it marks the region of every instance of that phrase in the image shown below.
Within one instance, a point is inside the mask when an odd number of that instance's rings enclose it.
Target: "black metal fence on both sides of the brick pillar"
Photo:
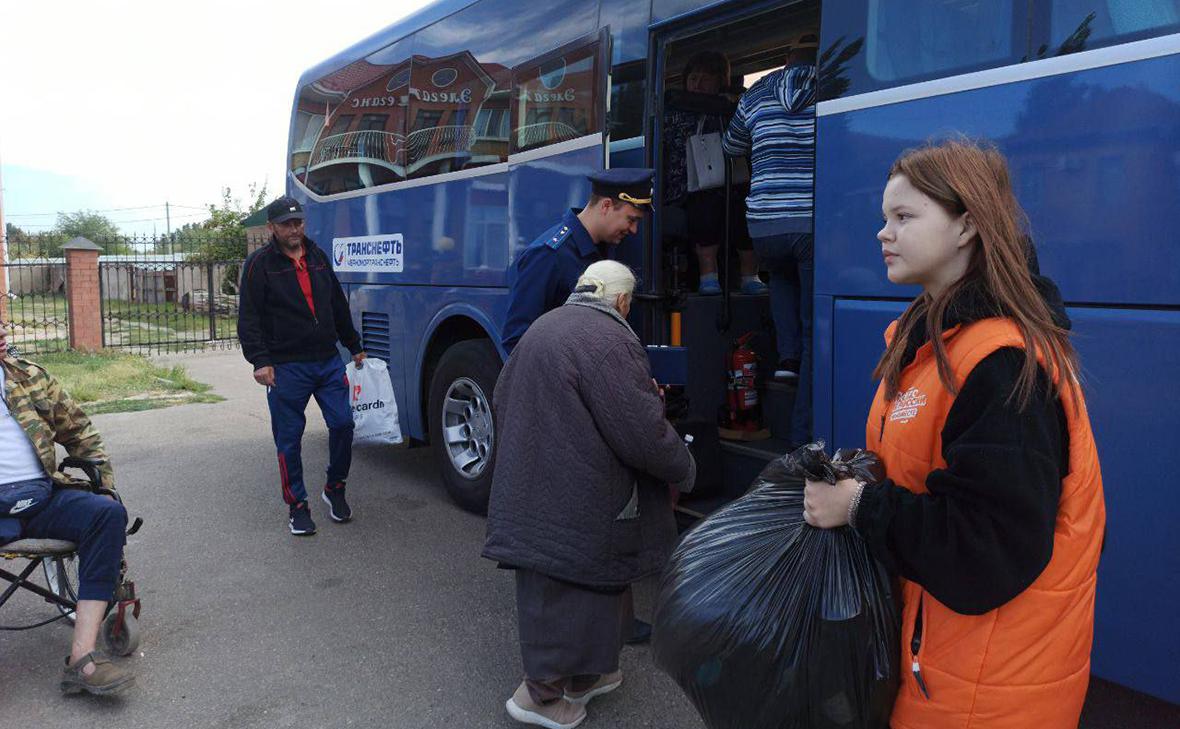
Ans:
[[[199,352],[237,346],[237,288],[245,237],[189,232],[165,238],[92,239],[103,346],[132,352]],[[70,347],[70,297],[61,241],[50,236],[8,248],[4,263],[9,342],[25,354]],[[15,254],[15,255],[14,255]]]

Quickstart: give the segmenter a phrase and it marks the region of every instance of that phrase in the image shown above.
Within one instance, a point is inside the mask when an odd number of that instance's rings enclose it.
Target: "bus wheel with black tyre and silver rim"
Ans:
[[[487,513],[496,426],[492,390],[500,355],[487,340],[466,340],[442,354],[430,390],[431,444],[442,485],[466,511]]]

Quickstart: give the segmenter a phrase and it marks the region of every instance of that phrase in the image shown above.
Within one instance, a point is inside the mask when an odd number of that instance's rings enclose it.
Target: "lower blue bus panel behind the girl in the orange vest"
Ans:
[[[881,333],[904,308],[896,301],[837,302],[834,446],[864,442]],[[1167,628],[1180,603],[1180,532],[1173,528],[1180,495],[1166,458],[1180,433],[1180,311],[1070,308],[1069,316],[1106,484],[1094,672],[1180,702],[1180,632]]]

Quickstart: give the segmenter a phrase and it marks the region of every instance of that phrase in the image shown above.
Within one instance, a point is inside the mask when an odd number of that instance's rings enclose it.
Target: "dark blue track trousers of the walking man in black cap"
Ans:
[[[315,398],[328,425],[327,484],[343,482],[353,462],[353,411],[348,402],[348,377],[340,357],[322,362],[275,364],[275,385],[267,390],[270,432],[278,451],[278,479],[283,501],[307,501],[303,485],[303,428],[307,401]]]

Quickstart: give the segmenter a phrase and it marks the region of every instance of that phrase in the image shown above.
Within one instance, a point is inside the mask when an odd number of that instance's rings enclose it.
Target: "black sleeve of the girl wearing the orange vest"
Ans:
[[[951,610],[982,615],[1023,592],[1053,556],[1068,429],[1044,370],[1023,409],[1009,398],[1024,352],[971,372],[943,427],[946,468],[926,494],[891,481],[865,488],[857,531],[873,553]]]

